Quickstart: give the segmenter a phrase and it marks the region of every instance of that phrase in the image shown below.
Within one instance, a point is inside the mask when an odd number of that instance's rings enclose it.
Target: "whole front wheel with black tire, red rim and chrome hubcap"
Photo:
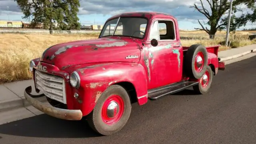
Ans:
[[[124,127],[131,109],[126,90],[122,86],[112,85],[101,94],[94,110],[88,115],[88,124],[99,134],[114,134]]]

